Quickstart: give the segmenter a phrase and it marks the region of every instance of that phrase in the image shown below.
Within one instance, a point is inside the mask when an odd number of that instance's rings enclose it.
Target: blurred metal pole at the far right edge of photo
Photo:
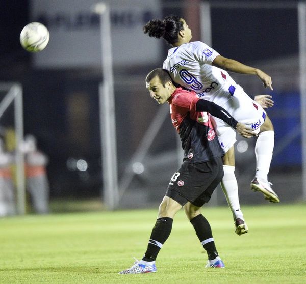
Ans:
[[[301,105],[302,198],[306,200],[306,3],[298,3],[298,37]]]

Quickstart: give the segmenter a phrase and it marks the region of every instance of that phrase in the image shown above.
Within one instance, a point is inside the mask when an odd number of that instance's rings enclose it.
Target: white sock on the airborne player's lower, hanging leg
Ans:
[[[223,171],[224,176],[221,181],[221,188],[225,194],[228,206],[232,210],[234,221],[237,218],[243,219],[243,214],[240,210],[238,184],[235,177],[235,166],[223,165]]]

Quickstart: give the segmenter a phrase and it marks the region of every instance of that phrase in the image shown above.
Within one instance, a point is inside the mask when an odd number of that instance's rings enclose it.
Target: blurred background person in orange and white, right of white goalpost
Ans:
[[[36,213],[49,212],[49,182],[46,173],[48,158],[37,149],[33,135],[24,137],[22,151],[24,153],[25,186],[30,193],[31,204]]]

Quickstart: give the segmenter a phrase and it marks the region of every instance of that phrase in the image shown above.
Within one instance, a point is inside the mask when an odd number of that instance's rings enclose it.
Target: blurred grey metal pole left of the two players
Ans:
[[[109,210],[114,210],[118,207],[119,197],[110,8],[106,3],[98,3],[94,10],[100,15],[103,75],[103,83],[99,88],[103,200]]]

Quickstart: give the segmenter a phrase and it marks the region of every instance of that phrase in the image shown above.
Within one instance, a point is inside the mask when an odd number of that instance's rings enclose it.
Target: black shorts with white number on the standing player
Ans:
[[[184,162],[172,176],[166,196],[182,206],[190,201],[193,205],[201,207],[209,202],[223,175],[221,157],[198,164]]]

